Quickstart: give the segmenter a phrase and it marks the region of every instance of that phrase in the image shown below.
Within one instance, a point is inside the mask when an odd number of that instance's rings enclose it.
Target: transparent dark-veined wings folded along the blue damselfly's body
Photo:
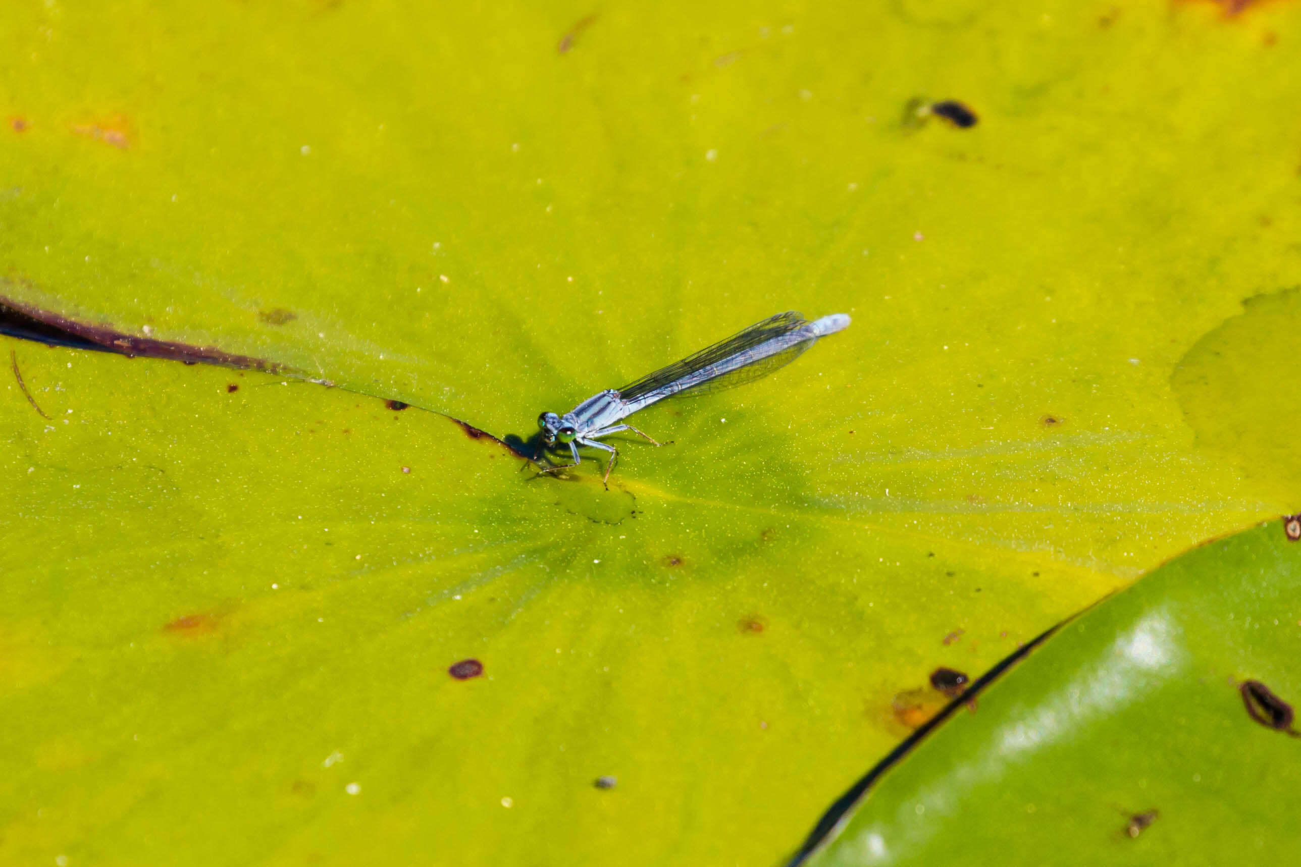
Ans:
[[[732,334],[726,341],[719,341],[695,355],[688,355],[680,361],[630,382],[619,389],[619,398],[624,402],[634,402],[658,391],[674,395],[709,394],[761,380],[798,359],[804,350],[813,346],[817,338],[809,335],[807,339],[792,341],[788,346],[775,351],[773,351],[774,346],[765,347],[764,344],[791,335],[792,331],[798,331],[805,325],[808,322],[804,317],[794,311],[770,316],[762,322],[755,322]],[[732,359],[735,360],[732,364],[725,364]],[[697,377],[708,368],[718,368],[719,372],[714,376]],[[697,381],[684,382],[693,378]],[[682,382],[683,386],[673,387],[678,382]]]

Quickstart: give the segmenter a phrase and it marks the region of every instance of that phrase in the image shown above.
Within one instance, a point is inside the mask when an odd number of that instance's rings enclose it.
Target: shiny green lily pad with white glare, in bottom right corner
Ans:
[[[1298,594],[1279,521],[1166,564],[955,714],[804,863],[1292,863]]]

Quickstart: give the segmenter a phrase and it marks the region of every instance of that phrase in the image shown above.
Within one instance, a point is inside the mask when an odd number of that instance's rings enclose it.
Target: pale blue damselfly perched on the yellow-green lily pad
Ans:
[[[569,446],[574,463],[549,467],[543,472],[578,465],[582,461],[578,447],[591,446],[610,452],[605,465],[605,481],[609,482],[619,451],[600,442],[601,437],[631,430],[656,446],[664,445],[630,424],[621,424],[623,419],[665,398],[710,394],[761,380],[794,361],[820,337],[835,334],[848,325],[850,317],[844,313],[831,313],[812,322],[794,311],[778,313],[622,389],[606,389],[563,416],[544,412],[537,416],[543,442],[548,447],[557,443]]]

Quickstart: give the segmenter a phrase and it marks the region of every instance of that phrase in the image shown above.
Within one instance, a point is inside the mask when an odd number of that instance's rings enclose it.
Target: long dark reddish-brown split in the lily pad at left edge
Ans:
[[[0,281],[3,283],[4,281]],[[90,325],[43,311],[10,298],[0,296],[0,334],[36,341],[49,346],[68,346],[78,350],[99,350],[134,357],[167,359],[186,364],[215,364],[224,368],[262,370],[264,373],[297,373],[293,368],[255,359],[247,355],[233,355],[221,350],[156,341],[151,337],[137,337],[118,331],[108,325]]]

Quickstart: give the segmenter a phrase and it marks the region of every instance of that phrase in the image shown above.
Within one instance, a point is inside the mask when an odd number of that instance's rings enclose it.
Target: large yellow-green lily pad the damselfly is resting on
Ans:
[[[12,13],[0,295],[289,368],[5,343],[14,859],[774,859],[937,664],[1291,506],[1170,380],[1296,282],[1291,8]],[[423,411],[790,308],[610,491]]]

